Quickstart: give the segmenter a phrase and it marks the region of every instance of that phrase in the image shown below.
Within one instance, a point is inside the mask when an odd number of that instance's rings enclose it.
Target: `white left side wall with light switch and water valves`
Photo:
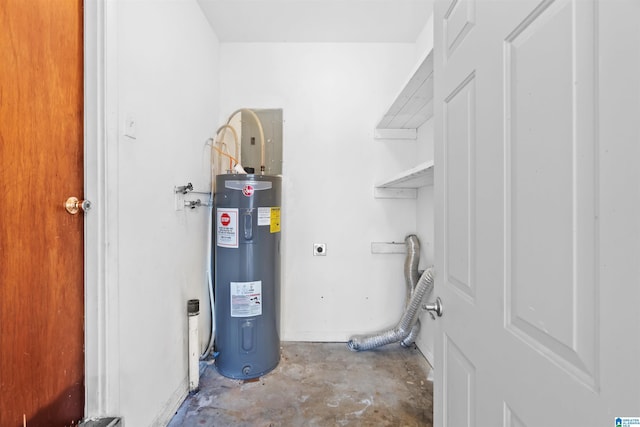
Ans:
[[[203,148],[218,125],[219,43],[195,0],[121,0],[117,33],[119,128],[109,143],[117,144],[111,188],[118,194],[108,218],[119,319],[113,407],[128,426],[164,425],[187,391],[188,299],[201,300],[202,346],[209,322],[208,211],[176,211],[173,187],[192,182],[208,191]],[[135,139],[123,135],[127,117]]]

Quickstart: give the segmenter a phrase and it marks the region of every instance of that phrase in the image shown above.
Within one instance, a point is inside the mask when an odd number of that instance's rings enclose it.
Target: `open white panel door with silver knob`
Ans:
[[[435,425],[640,417],[640,1],[434,13]]]

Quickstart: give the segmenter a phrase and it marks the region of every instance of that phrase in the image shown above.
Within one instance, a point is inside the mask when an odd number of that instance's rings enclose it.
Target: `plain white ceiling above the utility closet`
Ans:
[[[432,0],[198,0],[221,42],[413,43]]]

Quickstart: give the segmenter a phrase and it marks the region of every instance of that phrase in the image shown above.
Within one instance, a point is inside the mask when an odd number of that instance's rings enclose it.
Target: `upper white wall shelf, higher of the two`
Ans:
[[[376,129],[417,129],[432,116],[433,51],[429,51],[380,119]],[[376,133],[377,137],[382,138],[379,134]]]

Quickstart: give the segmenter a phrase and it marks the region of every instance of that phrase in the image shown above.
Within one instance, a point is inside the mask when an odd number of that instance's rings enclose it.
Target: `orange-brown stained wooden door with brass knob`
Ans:
[[[0,0],[0,426],[84,414],[82,0]]]

